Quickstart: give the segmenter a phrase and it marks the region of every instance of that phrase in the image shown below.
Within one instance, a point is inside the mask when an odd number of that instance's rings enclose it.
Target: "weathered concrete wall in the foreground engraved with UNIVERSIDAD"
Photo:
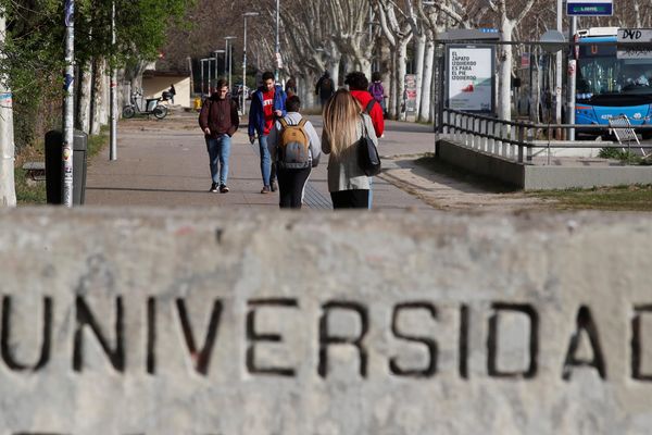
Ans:
[[[0,227],[1,434],[652,426],[645,215],[39,208]]]

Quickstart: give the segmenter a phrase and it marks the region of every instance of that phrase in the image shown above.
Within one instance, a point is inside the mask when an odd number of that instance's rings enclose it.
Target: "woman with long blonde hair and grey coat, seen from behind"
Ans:
[[[369,177],[358,163],[356,144],[364,129],[378,139],[369,115],[361,111],[351,92],[339,89],[324,108],[322,151],[328,156],[328,191],[334,209],[367,209]]]

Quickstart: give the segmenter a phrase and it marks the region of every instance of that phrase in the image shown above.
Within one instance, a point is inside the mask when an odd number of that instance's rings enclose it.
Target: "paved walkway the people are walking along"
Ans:
[[[321,133],[321,117],[310,119]],[[379,147],[383,156],[432,152],[434,148],[431,126],[398,122],[387,123]],[[325,156],[311,173],[305,195],[309,209],[331,209],[326,163]],[[208,153],[196,113],[175,113],[162,121],[121,121],[117,160],[109,161],[108,150],[95,157],[86,185],[86,203],[93,206],[278,208],[277,194],[260,194],[258,142],[249,144],[246,128],[240,128],[233,138],[230,192],[208,191],[211,185]],[[381,177],[374,179],[374,209],[436,210]]]

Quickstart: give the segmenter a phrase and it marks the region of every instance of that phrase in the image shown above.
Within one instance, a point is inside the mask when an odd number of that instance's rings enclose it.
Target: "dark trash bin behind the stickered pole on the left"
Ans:
[[[74,130],[73,140],[73,204],[84,203],[86,196],[86,150],[88,135],[82,130]],[[61,188],[63,179],[62,170],[63,134],[52,129],[46,133],[46,195],[48,203],[62,203]]]

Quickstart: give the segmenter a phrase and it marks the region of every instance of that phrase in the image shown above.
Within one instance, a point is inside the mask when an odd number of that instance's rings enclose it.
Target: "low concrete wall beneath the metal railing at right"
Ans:
[[[437,156],[473,173],[515,185],[524,190],[591,188],[652,184],[652,166],[625,166],[604,159],[579,160],[568,164],[523,164],[451,140],[439,140]],[[537,158],[539,162],[546,158]],[[553,158],[559,160],[559,158]]]

